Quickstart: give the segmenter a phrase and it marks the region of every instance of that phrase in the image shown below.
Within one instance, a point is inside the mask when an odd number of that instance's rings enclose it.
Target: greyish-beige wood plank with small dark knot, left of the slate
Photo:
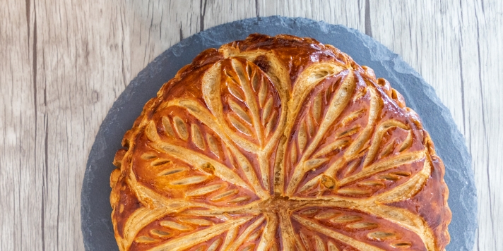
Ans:
[[[85,161],[106,107],[124,90],[121,6],[86,1],[28,1],[33,8],[36,102],[35,168],[42,185],[42,237],[20,250],[82,250],[80,191]],[[34,70],[35,71],[35,70]],[[17,219],[15,219],[17,220]],[[39,248],[37,248],[39,249]]]

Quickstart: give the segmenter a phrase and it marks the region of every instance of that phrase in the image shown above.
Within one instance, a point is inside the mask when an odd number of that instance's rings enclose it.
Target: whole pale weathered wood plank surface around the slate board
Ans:
[[[85,162],[108,109],[162,51],[242,18],[365,32],[437,90],[478,187],[475,250],[503,248],[503,1],[0,1],[0,250],[83,250]]]

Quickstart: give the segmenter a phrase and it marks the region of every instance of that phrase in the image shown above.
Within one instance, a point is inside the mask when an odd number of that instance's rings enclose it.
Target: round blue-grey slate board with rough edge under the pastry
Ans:
[[[100,126],[89,154],[81,194],[85,250],[117,250],[110,219],[109,178],[115,168],[112,160],[121,148],[124,133],[141,114],[143,105],[199,52],[244,39],[254,32],[314,37],[341,49],[360,65],[373,68],[377,78],[389,80],[391,86],[403,94],[407,106],[420,115],[446,166],[445,180],[449,185],[449,207],[453,214],[449,225],[451,243],[446,250],[473,250],[477,198],[471,157],[449,110],[433,88],[400,56],[357,30],[305,18],[278,16],[239,20],[192,35],[160,54],[126,87]]]

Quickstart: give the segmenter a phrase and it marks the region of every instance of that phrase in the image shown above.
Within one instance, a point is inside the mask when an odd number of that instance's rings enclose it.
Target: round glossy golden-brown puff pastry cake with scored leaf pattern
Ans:
[[[444,166],[389,82],[331,45],[250,35],[150,99],[112,172],[120,250],[444,250]]]

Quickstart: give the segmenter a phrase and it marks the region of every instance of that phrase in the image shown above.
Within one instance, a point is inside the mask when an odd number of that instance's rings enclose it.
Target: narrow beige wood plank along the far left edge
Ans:
[[[20,250],[41,240],[43,203],[35,147],[34,15],[21,1],[0,2],[0,250]],[[39,99],[40,100],[40,99]],[[40,125],[43,125],[41,122]],[[32,243],[40,249],[42,243]]]

